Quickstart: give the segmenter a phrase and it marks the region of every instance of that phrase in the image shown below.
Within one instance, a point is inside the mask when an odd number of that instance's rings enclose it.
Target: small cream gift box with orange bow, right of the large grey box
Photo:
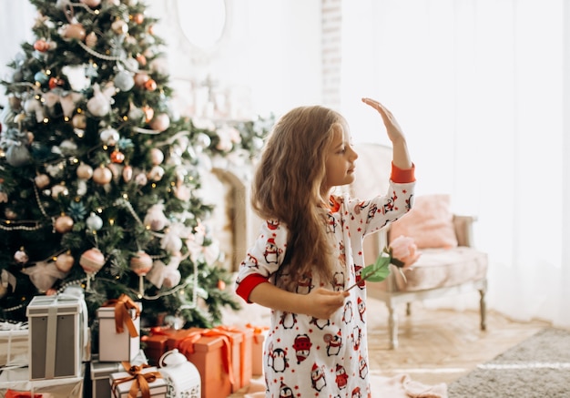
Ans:
[[[123,296],[97,309],[99,361],[131,362],[135,359],[140,350],[140,309],[140,302]],[[117,316],[122,318],[119,320],[120,331],[117,330]]]

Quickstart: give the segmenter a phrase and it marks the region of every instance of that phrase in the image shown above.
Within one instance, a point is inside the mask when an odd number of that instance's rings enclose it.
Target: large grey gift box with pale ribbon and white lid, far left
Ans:
[[[87,305],[82,296],[36,296],[26,308],[30,380],[78,377],[88,356]]]

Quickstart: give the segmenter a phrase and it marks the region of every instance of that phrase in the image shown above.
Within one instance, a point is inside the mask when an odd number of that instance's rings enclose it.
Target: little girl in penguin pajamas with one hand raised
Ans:
[[[268,398],[371,396],[366,289],[346,289],[360,281],[364,236],[411,209],[415,179],[391,112],[370,98],[362,102],[380,113],[392,141],[385,196],[332,194],[354,180],[358,155],[346,120],[326,107],[297,107],[281,117],[256,170],[251,202],[266,221],[240,264],[236,291],[272,310]]]

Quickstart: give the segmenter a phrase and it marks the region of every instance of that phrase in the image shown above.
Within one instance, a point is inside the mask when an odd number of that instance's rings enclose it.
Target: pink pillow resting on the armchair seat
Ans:
[[[418,249],[457,247],[449,195],[423,195],[415,198],[412,209],[392,222],[390,241],[399,236],[415,240]]]

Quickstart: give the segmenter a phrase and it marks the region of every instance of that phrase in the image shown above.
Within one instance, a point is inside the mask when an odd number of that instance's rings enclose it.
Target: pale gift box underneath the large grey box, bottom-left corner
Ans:
[[[82,398],[84,368],[85,365],[82,364],[81,374],[77,377],[36,381],[29,380],[30,370],[27,367],[4,370],[0,372],[0,397],[5,397],[10,392],[22,393],[22,396]]]

